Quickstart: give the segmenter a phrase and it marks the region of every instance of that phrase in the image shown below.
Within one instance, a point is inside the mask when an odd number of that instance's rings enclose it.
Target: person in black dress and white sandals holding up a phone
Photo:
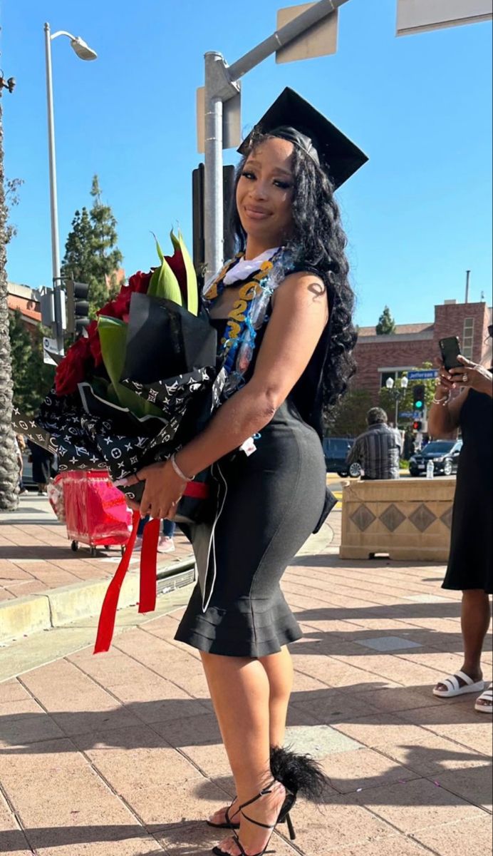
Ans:
[[[490,338],[491,334],[490,326]],[[480,713],[491,713],[493,693],[491,689],[485,689],[481,655],[490,626],[489,595],[493,591],[493,376],[491,370],[467,360],[460,353],[452,354],[453,341],[448,339],[441,342],[443,360],[428,426],[433,437],[448,436],[459,426],[462,432],[463,446],[455,488],[449,565],[443,588],[462,591],[464,663],[455,675],[439,682],[433,693],[439,698],[481,693],[475,709]],[[460,388],[459,395],[451,397],[452,392]]]

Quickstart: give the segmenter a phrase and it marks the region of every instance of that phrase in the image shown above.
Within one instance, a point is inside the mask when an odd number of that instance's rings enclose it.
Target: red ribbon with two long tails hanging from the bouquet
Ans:
[[[186,485],[184,496],[191,496],[192,499],[207,499],[208,484],[204,482],[189,482]],[[116,610],[118,609],[120,589],[132,558],[139,523],[140,512],[134,511],[132,515],[132,533],[126,543],[125,552],[121,557],[118,568],[116,568],[114,578],[111,580],[108,591],[104,596],[101,615],[99,616],[97,625],[96,645],[94,646],[95,654],[109,651],[111,640],[113,639],[114,621],[116,619]],[[158,518],[150,520],[144,528],[142,552],[140,554],[140,594],[138,602],[138,611],[140,613],[153,612],[156,609],[156,564],[160,528],[161,520]]]

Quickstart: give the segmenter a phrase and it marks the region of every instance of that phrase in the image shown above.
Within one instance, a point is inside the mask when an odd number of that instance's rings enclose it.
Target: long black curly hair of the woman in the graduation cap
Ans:
[[[249,154],[272,137],[275,134],[254,133]],[[249,154],[238,164],[232,197],[232,233],[238,250],[244,250],[247,236],[238,214],[236,188]],[[298,146],[294,146],[292,172],[293,229],[286,246],[293,253],[296,269],[316,270],[326,285],[331,320],[324,363],[324,405],[331,407],[346,392],[356,370],[352,356],[357,338],[352,321],[355,294],[349,284],[349,263],[344,252],[347,238],[332,181]]]

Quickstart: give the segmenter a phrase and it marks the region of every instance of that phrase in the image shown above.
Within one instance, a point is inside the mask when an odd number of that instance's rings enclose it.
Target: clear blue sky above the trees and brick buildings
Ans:
[[[151,231],[164,244],[179,223],[191,247],[204,52],[234,62],[273,31],[277,8],[274,0],[3,0],[0,65],[17,79],[3,95],[5,173],[25,181],[10,281],[50,284],[44,21],[98,53],[81,62],[67,39],[53,44],[61,254],[97,173],[128,276],[155,263]],[[467,269],[471,300],[483,290],[490,300],[490,23],[399,39],[395,27],[396,0],[349,0],[336,55],[279,65],[271,57],[243,80],[245,131],[292,86],[370,157],[337,194],[359,324],[375,324],[385,303],[397,323],[431,320],[435,303],[463,299]],[[226,163],[235,158],[225,153]]]

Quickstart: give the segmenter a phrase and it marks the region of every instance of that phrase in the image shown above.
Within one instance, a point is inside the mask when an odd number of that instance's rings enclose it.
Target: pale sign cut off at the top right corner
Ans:
[[[491,0],[397,0],[397,35],[490,21],[492,17]]]

